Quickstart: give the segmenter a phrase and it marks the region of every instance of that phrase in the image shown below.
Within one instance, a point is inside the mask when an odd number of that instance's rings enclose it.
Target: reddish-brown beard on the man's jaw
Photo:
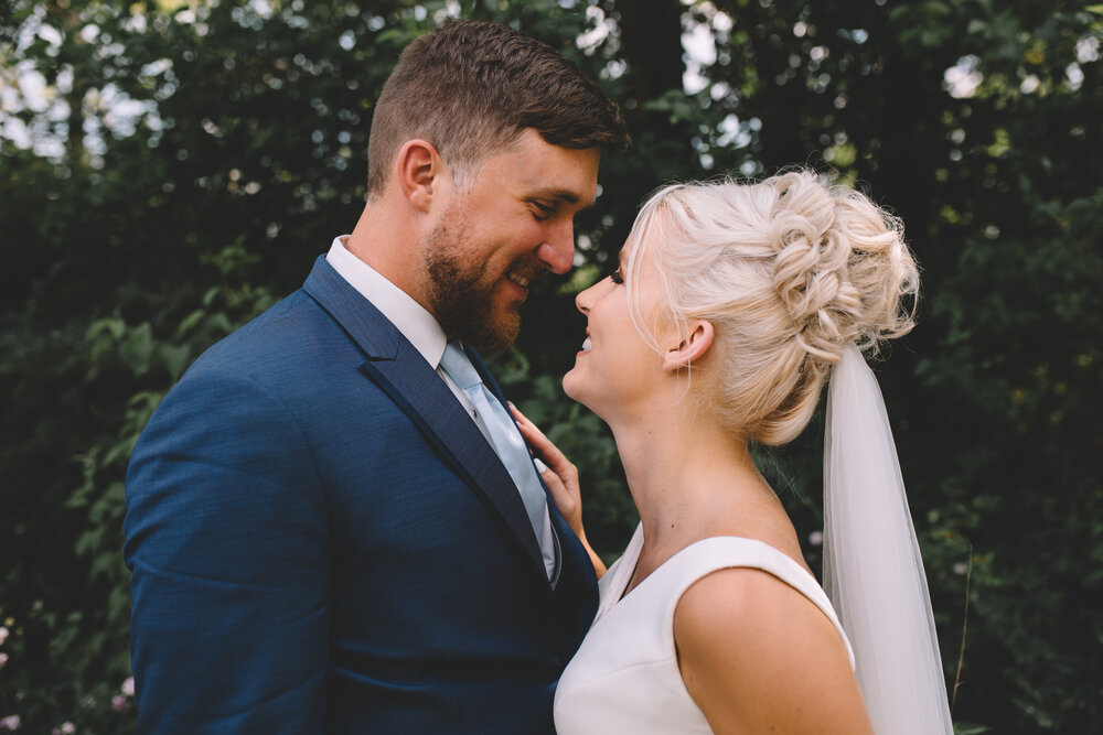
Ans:
[[[494,290],[505,271],[492,272],[485,259],[472,259],[476,248],[468,239],[470,231],[467,218],[452,209],[426,238],[432,311],[449,339],[476,349],[508,347],[521,331],[521,304],[494,310]]]

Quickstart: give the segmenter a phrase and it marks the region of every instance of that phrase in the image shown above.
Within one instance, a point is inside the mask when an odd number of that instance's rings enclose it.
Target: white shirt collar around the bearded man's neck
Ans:
[[[436,370],[448,338],[425,306],[345,248],[347,235],[333,239],[325,261],[349,285],[379,310]]]

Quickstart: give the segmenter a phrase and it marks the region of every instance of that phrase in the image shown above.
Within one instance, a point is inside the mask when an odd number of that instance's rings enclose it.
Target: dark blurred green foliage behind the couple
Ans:
[[[579,267],[491,356],[578,463],[599,551],[635,518],[559,388],[574,294],[661,183],[837,171],[923,268],[878,374],[959,732],[1103,732],[1103,6],[1062,0],[0,3],[0,729],[133,731],[133,442],[352,229],[383,80],[457,15],[561,50],[634,138],[602,161]],[[813,569],[821,432],[758,455]]]

